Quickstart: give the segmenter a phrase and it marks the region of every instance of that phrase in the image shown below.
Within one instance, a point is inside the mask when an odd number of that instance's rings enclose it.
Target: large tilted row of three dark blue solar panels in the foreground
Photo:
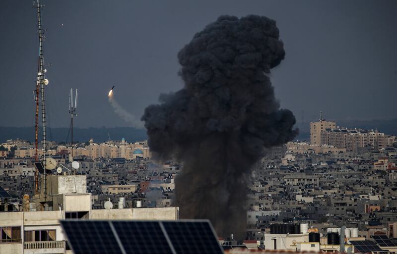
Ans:
[[[63,220],[74,254],[223,254],[209,221]]]

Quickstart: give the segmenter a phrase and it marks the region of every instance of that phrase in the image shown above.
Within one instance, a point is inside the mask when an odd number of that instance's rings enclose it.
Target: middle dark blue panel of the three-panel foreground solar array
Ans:
[[[172,254],[157,221],[111,222],[126,254]]]

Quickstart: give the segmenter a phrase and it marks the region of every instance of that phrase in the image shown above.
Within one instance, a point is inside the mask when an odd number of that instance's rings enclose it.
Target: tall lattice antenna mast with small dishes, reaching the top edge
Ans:
[[[39,88],[41,88],[41,113],[42,113],[42,124],[43,124],[43,166],[46,168],[46,157],[47,157],[47,146],[46,146],[46,107],[45,107],[45,96],[44,96],[44,87],[48,85],[49,81],[45,78],[45,73],[47,72],[44,69],[44,54],[43,54],[43,42],[45,39],[44,30],[41,27],[41,11],[40,8],[44,7],[44,5],[40,5],[40,0],[33,1],[33,7],[37,9],[37,22],[38,22],[38,33],[39,33],[39,70],[37,73],[37,81],[36,81],[36,151],[35,157],[36,160],[37,156],[37,149],[38,149],[38,103],[39,103]],[[35,171],[35,190],[38,192],[38,172]],[[44,200],[47,202],[47,175],[46,170],[44,170]]]

